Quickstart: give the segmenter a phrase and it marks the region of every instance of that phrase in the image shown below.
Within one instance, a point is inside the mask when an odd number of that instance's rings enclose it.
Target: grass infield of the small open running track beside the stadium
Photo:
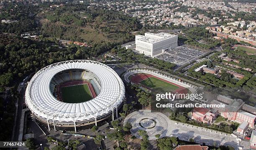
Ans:
[[[170,84],[168,82],[162,81],[160,79],[149,77],[140,82],[140,84],[148,86],[154,92],[173,92],[176,89],[179,89],[178,86]]]

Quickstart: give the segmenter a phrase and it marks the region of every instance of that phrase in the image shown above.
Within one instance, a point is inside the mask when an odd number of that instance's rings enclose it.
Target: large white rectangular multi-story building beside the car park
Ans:
[[[169,33],[145,33],[135,36],[136,51],[154,57],[178,46],[178,36]]]

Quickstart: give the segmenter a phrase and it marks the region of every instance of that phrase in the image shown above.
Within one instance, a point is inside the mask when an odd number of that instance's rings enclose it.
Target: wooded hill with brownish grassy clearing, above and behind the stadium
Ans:
[[[120,12],[84,6],[63,6],[41,17],[44,37],[87,43],[129,41],[141,28],[136,18]]]

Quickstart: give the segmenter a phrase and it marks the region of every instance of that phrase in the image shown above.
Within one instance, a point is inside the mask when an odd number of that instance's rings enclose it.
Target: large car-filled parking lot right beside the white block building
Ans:
[[[177,48],[166,51],[165,53],[157,56],[156,58],[181,65],[184,64],[184,62],[188,62],[193,58],[205,54],[206,52],[207,51],[199,51],[189,46],[179,46]]]

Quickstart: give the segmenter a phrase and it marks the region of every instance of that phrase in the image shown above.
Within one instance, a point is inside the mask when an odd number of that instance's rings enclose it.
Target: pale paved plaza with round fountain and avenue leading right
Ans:
[[[136,111],[125,118],[124,123],[126,122],[132,124],[131,133],[137,138],[141,138],[138,135],[138,130],[145,130],[148,133],[149,140],[156,139],[155,135],[160,134],[161,137],[174,136],[185,141],[193,138],[195,142],[200,144],[230,145],[235,149],[238,147],[238,140],[233,135],[176,122],[160,112],[151,112],[151,110]],[[244,149],[248,148],[247,143],[240,146]]]

